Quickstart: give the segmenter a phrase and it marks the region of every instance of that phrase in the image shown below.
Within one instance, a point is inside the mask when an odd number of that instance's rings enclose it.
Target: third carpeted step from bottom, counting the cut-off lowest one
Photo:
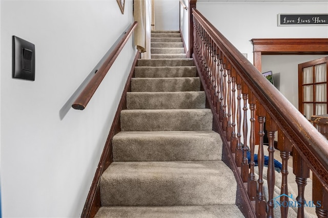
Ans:
[[[222,140],[214,131],[119,132],[113,161],[221,160]]]

